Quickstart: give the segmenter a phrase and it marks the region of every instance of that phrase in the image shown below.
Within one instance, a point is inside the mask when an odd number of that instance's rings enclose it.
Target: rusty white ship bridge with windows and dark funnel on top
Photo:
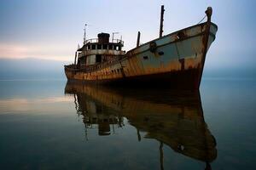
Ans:
[[[84,41],[84,46],[76,52],[78,54],[78,64],[80,66],[96,65],[117,59],[125,54],[122,50],[124,42],[120,39],[112,39],[109,42],[108,33],[99,33],[98,38]]]

